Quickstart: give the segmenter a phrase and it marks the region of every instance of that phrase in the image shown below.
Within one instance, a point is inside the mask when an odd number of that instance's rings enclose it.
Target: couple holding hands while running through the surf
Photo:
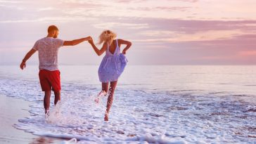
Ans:
[[[104,120],[108,121],[108,113],[113,103],[113,96],[115,87],[117,86],[117,79],[122,74],[124,67],[127,63],[127,59],[124,54],[132,46],[129,41],[122,39],[115,39],[117,36],[110,30],[105,30],[99,37],[99,43],[103,46],[98,49],[91,37],[85,37],[82,39],[75,39],[72,41],[63,41],[57,39],[58,27],[51,25],[48,28],[48,35],[42,39],[39,39],[33,46],[33,48],[25,55],[23,61],[20,63],[20,68],[23,70],[26,67],[27,60],[38,51],[39,54],[39,80],[41,90],[44,91],[44,109],[46,116],[49,116],[51,90],[54,92],[56,105],[60,100],[60,71],[58,70],[58,49],[60,46],[75,46],[88,41],[91,44],[97,55],[101,55],[105,52],[105,56],[101,61],[101,65],[98,68],[98,77],[102,82],[102,91],[98,96],[108,95],[108,103],[105,110]],[[120,53],[120,46],[124,44],[126,47]],[[110,87],[108,84],[110,83]],[[97,102],[98,99],[96,99]]]

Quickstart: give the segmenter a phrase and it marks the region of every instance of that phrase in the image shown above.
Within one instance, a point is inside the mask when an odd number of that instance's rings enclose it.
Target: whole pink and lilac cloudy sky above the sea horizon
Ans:
[[[255,0],[0,0],[0,65],[19,65],[49,25],[63,40],[97,42],[103,30],[113,30],[132,41],[131,65],[255,65],[255,6]],[[102,58],[85,41],[61,47],[58,62],[98,65]],[[27,63],[37,65],[38,54]]]

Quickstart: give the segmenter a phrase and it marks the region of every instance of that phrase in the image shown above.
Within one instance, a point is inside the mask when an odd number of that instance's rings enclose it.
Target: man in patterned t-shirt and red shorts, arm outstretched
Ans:
[[[20,63],[20,68],[23,70],[26,67],[27,60],[36,51],[39,53],[39,79],[41,90],[44,91],[44,109],[46,117],[49,116],[51,90],[54,91],[54,104],[60,100],[60,71],[58,70],[58,49],[61,46],[75,46],[88,41],[91,37],[82,39],[75,39],[72,41],[63,41],[57,39],[58,27],[51,25],[48,28],[48,35],[39,39],[33,48],[25,55],[23,61]]]

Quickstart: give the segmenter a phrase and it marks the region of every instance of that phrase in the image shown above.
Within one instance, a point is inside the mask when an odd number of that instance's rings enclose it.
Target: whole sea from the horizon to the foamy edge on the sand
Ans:
[[[37,66],[1,66],[0,94],[33,102],[15,127],[78,143],[256,143],[255,66],[128,65],[109,122],[97,68],[60,67],[59,113],[46,121]]]

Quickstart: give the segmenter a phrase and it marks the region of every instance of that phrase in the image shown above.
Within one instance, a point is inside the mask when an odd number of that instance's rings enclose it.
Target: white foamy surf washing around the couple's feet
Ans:
[[[177,91],[117,86],[109,122],[104,122],[107,97],[94,102],[100,84],[72,82],[62,84],[56,107],[51,97],[48,120],[37,80],[0,79],[0,93],[33,102],[31,116],[15,127],[39,136],[76,138],[77,143],[255,143],[255,96],[201,93],[188,85]]]

